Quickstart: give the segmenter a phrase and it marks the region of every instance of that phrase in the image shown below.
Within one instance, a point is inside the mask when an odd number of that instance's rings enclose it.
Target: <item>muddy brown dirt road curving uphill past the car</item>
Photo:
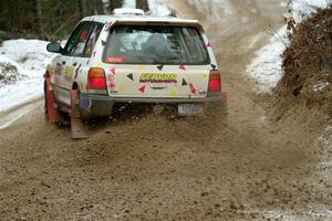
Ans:
[[[261,13],[224,21],[168,2],[207,24],[230,94],[228,116],[178,119],[128,107],[73,141],[39,105],[0,134],[1,221],[332,219],[331,151],[319,141],[326,119],[253,94],[245,76],[268,36],[250,49],[249,41],[269,21],[279,25],[279,1],[258,1]]]

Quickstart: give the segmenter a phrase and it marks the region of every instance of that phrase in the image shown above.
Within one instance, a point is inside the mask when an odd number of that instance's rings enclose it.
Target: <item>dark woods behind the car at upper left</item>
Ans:
[[[123,0],[0,0],[0,40],[63,39],[83,17],[122,6]],[[136,7],[148,11],[147,0],[136,0]]]

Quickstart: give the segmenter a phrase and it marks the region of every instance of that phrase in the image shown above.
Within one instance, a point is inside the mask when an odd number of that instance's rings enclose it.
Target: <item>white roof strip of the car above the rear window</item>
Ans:
[[[154,17],[154,15],[134,15],[134,14],[112,14],[112,15],[93,15],[86,17],[82,21],[96,21],[101,23],[106,22],[167,22],[167,23],[186,23],[193,25],[200,25],[198,20],[179,19],[174,17]]]

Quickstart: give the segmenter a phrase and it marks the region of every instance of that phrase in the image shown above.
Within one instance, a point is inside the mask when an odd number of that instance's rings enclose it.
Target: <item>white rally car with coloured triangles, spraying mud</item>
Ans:
[[[178,104],[179,115],[201,104],[226,104],[221,76],[197,20],[156,18],[117,10],[83,19],[44,75],[46,113],[71,116],[74,138],[85,137],[82,119],[112,115],[115,103]]]

